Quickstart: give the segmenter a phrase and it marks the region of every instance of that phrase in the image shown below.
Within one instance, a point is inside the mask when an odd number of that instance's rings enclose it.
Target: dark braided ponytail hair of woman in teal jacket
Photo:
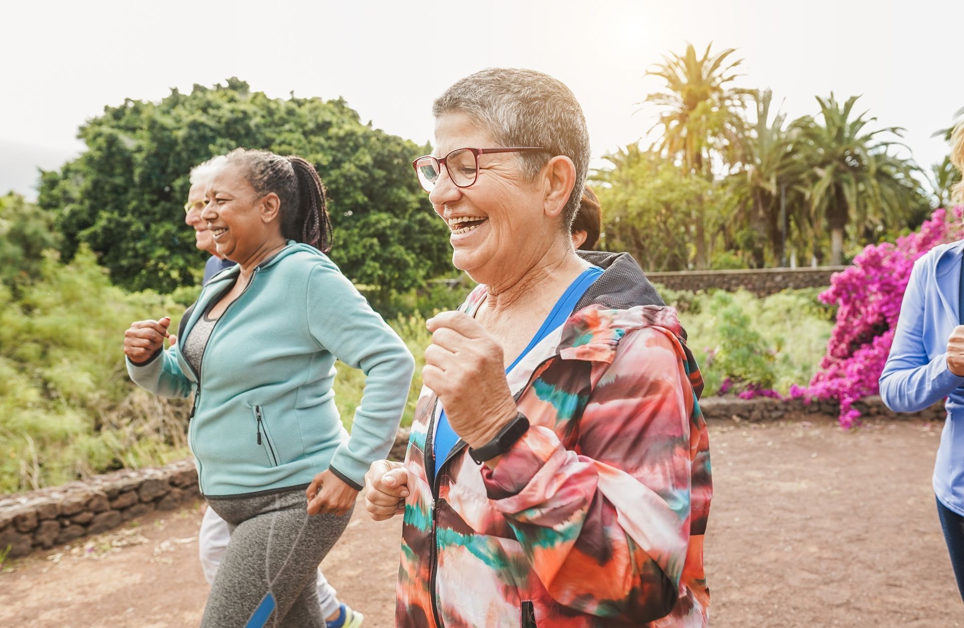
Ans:
[[[278,195],[281,235],[310,244],[322,253],[332,250],[328,199],[314,166],[296,155],[282,157],[267,150],[248,149],[228,152],[228,163],[241,166],[258,195]]]

